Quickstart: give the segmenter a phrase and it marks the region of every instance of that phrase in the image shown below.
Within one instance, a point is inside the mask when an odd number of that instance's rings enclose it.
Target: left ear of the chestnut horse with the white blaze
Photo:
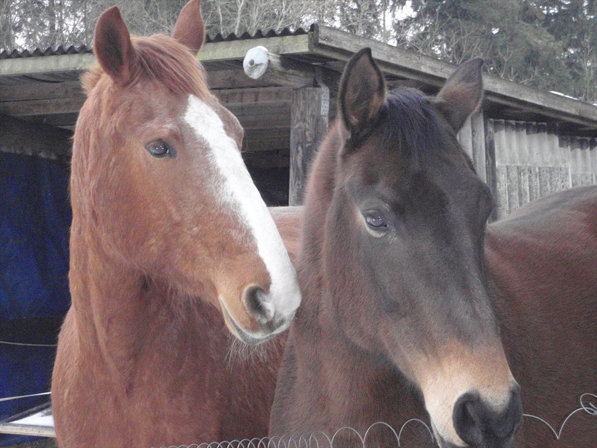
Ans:
[[[136,55],[118,7],[104,11],[97,21],[93,51],[101,68],[117,84],[127,84],[136,70]]]

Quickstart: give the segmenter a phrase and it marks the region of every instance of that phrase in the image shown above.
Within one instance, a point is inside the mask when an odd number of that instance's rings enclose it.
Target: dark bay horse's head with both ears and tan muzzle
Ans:
[[[442,447],[507,446],[522,419],[485,283],[492,199],[456,139],[481,102],[481,65],[460,66],[436,97],[386,94],[371,51],[355,54],[326,219],[343,332],[418,386]]]

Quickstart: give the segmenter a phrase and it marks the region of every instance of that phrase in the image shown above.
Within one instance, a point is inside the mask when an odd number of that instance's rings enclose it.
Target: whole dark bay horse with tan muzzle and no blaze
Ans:
[[[594,392],[596,189],[521,208],[485,237],[493,201],[456,139],[481,102],[481,65],[426,97],[387,94],[368,49],[347,63],[340,118],[310,171],[303,304],[270,435],[364,434],[378,421],[398,431],[427,411],[439,446],[501,448],[522,404],[556,425]],[[558,446],[592,446],[588,418],[570,421]],[[555,441],[540,422],[523,428],[517,446]],[[339,432],[334,446],[353,437]],[[402,443],[432,446],[416,426]],[[395,444],[383,426],[367,435],[367,446]]]

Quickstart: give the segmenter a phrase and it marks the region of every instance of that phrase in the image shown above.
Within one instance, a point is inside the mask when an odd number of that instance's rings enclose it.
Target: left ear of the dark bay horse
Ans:
[[[346,64],[338,101],[344,127],[352,137],[362,136],[376,124],[386,101],[386,83],[371,48],[359,50]]]

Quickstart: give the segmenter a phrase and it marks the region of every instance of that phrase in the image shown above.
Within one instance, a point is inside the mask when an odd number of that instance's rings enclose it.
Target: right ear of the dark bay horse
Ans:
[[[433,101],[455,131],[459,131],[469,115],[476,111],[483,97],[480,57],[464,63],[445,82]]]

